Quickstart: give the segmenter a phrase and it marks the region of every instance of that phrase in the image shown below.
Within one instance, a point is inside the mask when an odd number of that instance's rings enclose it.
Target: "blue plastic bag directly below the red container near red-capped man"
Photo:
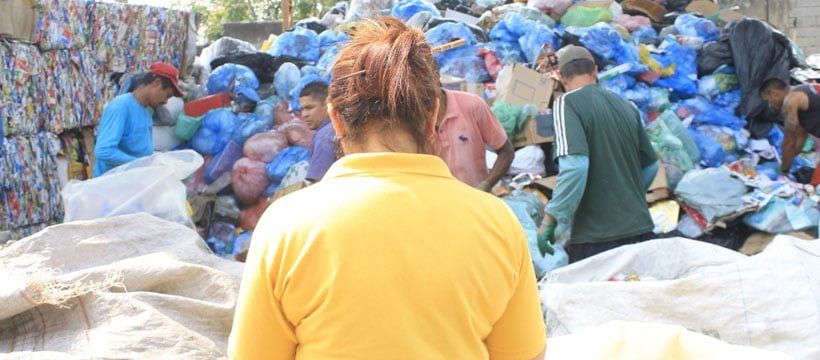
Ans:
[[[202,118],[202,125],[191,139],[191,147],[203,155],[214,155],[228,144],[239,119],[228,109],[212,110]]]

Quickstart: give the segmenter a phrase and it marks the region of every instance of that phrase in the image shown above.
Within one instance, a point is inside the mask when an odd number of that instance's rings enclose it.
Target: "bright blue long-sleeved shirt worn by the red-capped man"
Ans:
[[[103,110],[94,146],[94,177],[122,164],[151,155],[153,116],[131,93],[111,100]]]

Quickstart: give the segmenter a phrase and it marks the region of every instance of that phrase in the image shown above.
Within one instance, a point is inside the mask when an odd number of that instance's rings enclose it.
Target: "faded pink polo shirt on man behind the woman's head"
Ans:
[[[444,159],[453,176],[476,186],[489,174],[486,148],[500,149],[507,133],[484,99],[461,91],[444,92],[447,114],[432,144],[433,153]]]

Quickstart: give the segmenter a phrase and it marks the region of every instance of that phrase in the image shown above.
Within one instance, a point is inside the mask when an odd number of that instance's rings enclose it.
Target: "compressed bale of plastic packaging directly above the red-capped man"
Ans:
[[[156,61],[186,65],[188,13],[114,3],[88,6],[89,45],[102,70],[142,71]]]

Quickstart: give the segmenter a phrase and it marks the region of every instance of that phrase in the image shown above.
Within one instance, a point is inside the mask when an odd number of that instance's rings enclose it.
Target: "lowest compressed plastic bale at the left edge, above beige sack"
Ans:
[[[35,135],[3,139],[0,153],[0,230],[28,235],[63,216],[60,179],[55,156],[56,135]]]

